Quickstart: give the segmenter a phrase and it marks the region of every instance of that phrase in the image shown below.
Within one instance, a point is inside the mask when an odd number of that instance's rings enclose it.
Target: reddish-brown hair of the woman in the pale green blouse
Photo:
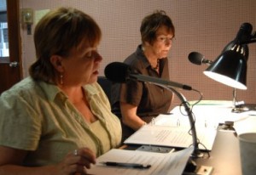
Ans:
[[[30,76],[34,80],[54,83],[57,73],[49,60],[52,55],[68,56],[71,49],[79,47],[84,40],[94,46],[101,37],[99,25],[88,14],[75,8],[50,11],[34,31],[37,60],[30,66]]]

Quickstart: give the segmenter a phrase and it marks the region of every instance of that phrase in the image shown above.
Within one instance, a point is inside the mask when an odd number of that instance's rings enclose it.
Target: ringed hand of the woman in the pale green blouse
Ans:
[[[86,168],[96,164],[96,155],[89,148],[81,148],[68,153],[61,163],[57,165],[56,174],[86,174]]]

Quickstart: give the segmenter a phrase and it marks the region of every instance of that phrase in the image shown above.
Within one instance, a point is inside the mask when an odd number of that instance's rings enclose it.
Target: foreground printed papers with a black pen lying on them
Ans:
[[[194,148],[180,150],[173,153],[154,153],[139,150],[118,150],[113,149],[106,154],[97,158],[96,165],[93,165],[89,170],[89,174],[152,174],[152,175],[166,175],[166,174],[182,174],[184,167],[189,160]],[[148,169],[137,169],[131,167],[108,167],[100,162],[114,161],[124,163],[139,163],[151,165]]]

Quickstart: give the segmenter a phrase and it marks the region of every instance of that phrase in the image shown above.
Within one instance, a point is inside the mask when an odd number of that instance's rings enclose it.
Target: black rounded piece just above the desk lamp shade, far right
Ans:
[[[236,34],[234,41],[236,43],[243,43],[251,40],[251,33],[253,31],[253,25],[250,23],[243,23],[240,26],[239,31]]]

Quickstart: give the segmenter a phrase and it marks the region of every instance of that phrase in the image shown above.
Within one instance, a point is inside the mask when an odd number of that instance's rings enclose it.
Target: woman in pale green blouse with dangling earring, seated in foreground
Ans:
[[[85,174],[121,140],[97,81],[102,31],[74,8],[46,14],[34,31],[30,76],[0,97],[0,174]]]

